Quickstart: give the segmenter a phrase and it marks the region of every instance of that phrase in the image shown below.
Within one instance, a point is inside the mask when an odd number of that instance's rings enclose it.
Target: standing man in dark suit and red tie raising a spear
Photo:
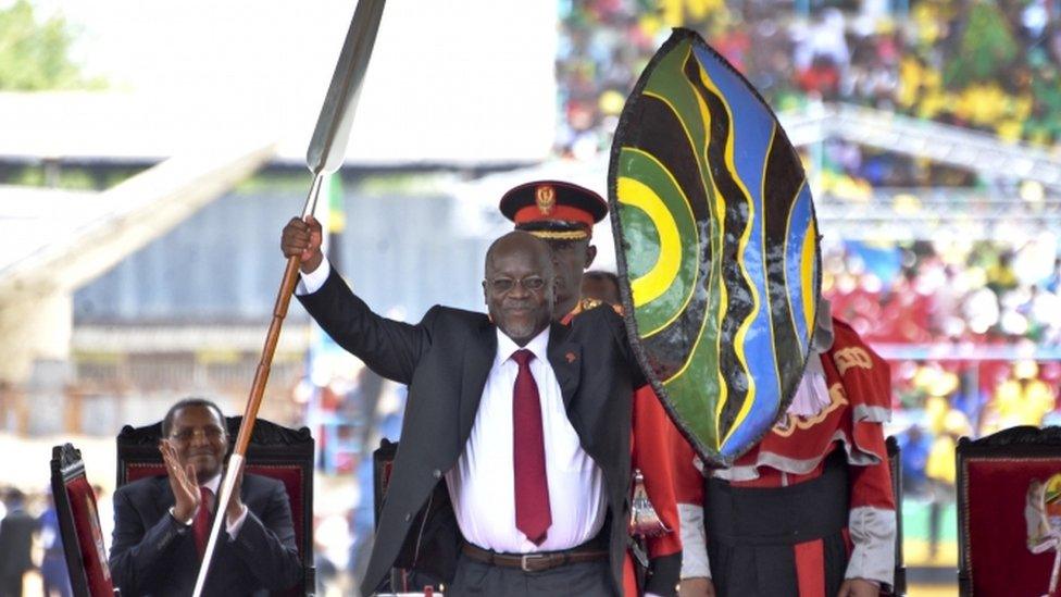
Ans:
[[[317,323],[409,385],[362,593],[411,554],[411,568],[434,564],[447,595],[619,595],[631,396],[645,383],[622,319],[598,309],[551,323],[552,256],[523,232],[487,253],[489,315],[434,307],[416,325],[350,291],[312,217],[288,223],[280,244],[301,259],[297,294]]]

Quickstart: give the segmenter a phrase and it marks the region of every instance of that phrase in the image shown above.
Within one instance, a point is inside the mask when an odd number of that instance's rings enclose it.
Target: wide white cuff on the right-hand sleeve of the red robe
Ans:
[[[844,577],[876,581],[890,587],[895,582],[895,511],[867,506],[852,508],[848,531],[854,549]]]

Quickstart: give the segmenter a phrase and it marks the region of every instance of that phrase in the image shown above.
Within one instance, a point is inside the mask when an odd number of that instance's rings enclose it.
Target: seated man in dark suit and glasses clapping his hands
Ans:
[[[302,568],[283,483],[248,474],[237,481],[228,506],[216,507],[228,448],[221,409],[209,400],[182,400],[163,419],[162,437],[167,474],[114,493],[115,586],[124,595],[191,595],[211,512],[220,510],[225,527],[203,595],[252,595],[298,583]]]

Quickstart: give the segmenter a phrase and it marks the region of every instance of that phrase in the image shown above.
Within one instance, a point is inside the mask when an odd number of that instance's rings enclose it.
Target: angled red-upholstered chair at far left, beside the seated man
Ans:
[[[51,493],[63,539],[70,585],[77,597],[113,597],[96,493],[85,477],[80,450],[70,444],[51,451]]]

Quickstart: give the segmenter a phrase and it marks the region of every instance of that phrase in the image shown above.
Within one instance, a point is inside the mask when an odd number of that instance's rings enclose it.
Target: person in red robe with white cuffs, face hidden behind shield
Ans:
[[[758,445],[716,470],[704,470],[685,441],[673,447],[683,597],[710,588],[740,597],[861,596],[891,585],[888,365],[823,304],[816,350],[792,405]]]

